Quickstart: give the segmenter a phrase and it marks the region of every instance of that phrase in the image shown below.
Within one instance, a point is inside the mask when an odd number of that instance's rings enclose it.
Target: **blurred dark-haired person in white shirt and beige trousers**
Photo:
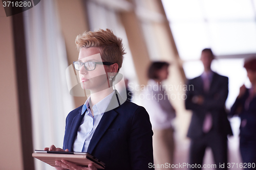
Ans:
[[[148,68],[147,88],[144,93],[143,106],[150,115],[153,135],[154,164],[173,164],[174,137],[172,120],[176,116],[175,109],[168,100],[168,94],[161,82],[168,77],[167,62],[153,62]],[[168,169],[157,167],[158,169]]]

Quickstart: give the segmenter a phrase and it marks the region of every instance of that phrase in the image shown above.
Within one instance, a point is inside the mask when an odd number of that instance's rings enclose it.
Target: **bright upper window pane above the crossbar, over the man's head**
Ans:
[[[256,53],[255,0],[162,0],[183,60],[204,47],[217,56]]]

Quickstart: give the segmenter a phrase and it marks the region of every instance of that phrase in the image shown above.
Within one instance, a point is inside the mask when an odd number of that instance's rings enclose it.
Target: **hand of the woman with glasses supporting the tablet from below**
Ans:
[[[70,169],[70,170],[97,170],[97,168],[92,164],[89,163],[88,167],[81,167],[78,166],[72,162],[66,161],[66,160],[61,160],[61,161],[55,161],[55,165],[60,166],[60,167],[55,167],[57,170],[62,170],[62,169]],[[59,169],[58,169],[59,168]]]

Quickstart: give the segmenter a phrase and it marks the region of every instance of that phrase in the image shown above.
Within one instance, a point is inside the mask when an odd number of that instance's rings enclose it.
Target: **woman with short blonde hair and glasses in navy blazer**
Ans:
[[[148,114],[112,87],[125,54],[122,40],[106,29],[84,32],[76,45],[79,57],[73,65],[82,89],[89,89],[91,95],[67,116],[63,149],[52,145],[45,150],[88,152],[104,162],[106,170],[150,169],[153,132]],[[56,169],[96,169],[66,160],[56,165]]]

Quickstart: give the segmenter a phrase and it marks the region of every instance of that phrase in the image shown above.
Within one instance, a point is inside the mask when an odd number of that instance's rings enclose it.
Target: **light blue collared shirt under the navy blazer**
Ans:
[[[74,152],[87,152],[95,129],[99,125],[100,119],[103,116],[106,108],[109,106],[114,93],[115,90],[92,107],[94,116],[89,109],[89,101],[91,100],[91,96],[89,96],[89,98],[86,100],[86,103],[84,103],[82,107],[81,114],[84,112],[86,113],[77,131],[77,136],[73,144]]]

